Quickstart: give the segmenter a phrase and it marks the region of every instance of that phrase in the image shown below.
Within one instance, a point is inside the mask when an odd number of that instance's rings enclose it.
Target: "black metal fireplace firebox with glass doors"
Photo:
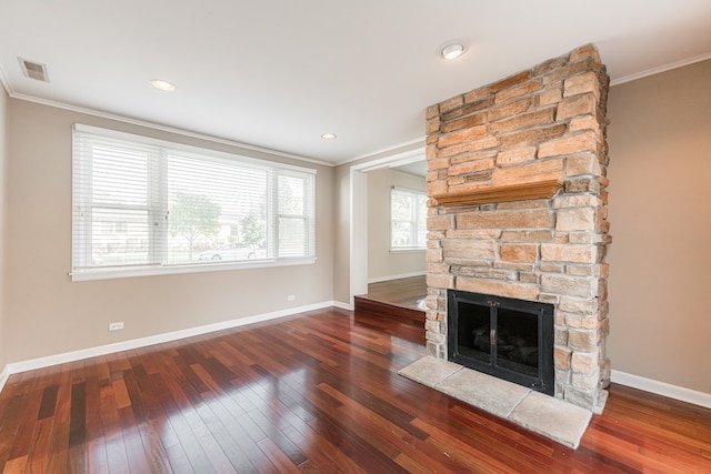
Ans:
[[[448,359],[554,394],[553,305],[448,290]]]

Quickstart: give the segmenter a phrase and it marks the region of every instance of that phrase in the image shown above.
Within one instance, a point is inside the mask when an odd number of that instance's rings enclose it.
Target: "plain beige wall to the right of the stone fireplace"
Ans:
[[[711,61],[610,89],[612,369],[711,394]]]

